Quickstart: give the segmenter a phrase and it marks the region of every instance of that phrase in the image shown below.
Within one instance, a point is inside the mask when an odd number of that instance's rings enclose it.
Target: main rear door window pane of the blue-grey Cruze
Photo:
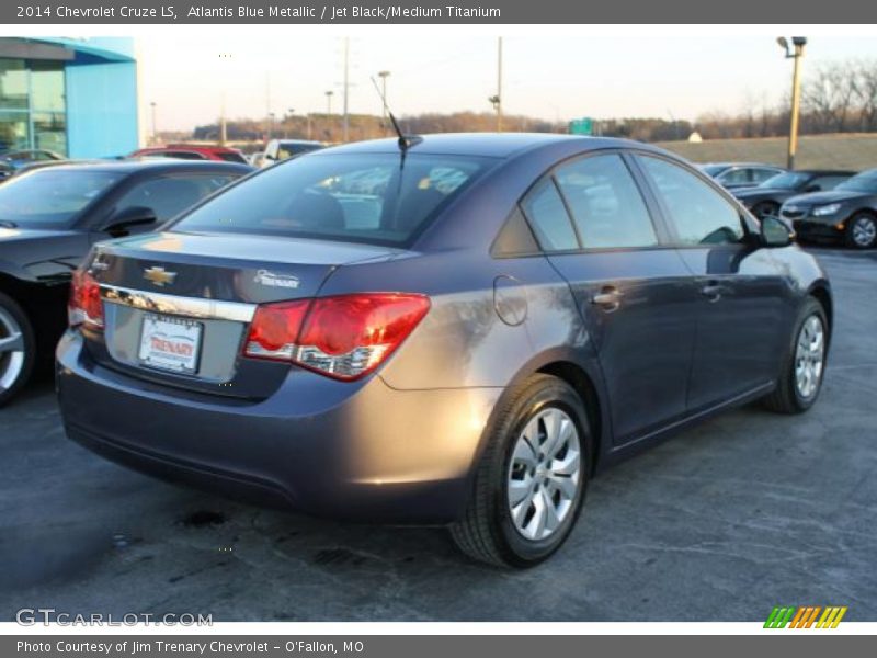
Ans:
[[[583,158],[559,167],[555,178],[585,249],[658,243],[646,202],[620,156]]]

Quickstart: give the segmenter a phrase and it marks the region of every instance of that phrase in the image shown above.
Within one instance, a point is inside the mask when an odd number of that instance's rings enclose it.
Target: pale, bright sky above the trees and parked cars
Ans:
[[[288,109],[342,110],[343,38],[289,31],[239,36],[137,37],[141,100],[157,103],[159,131],[189,129],[219,115],[264,117]],[[176,33],[180,35],[180,33]],[[398,115],[489,111],[497,86],[497,39],[413,34],[350,39],[350,111],[380,112],[369,76],[389,70],[388,100]],[[875,58],[877,39],[811,37],[805,73],[820,63]],[[736,113],[748,102],[774,105],[790,84],[791,63],[767,36],[504,38],[503,105],[509,114],[695,118]],[[148,116],[148,114],[147,114]]]

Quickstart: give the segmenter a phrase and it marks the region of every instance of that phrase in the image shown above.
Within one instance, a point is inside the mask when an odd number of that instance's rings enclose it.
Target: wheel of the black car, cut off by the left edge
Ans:
[[[36,361],[36,339],[21,306],[0,293],[0,407],[27,383]]]

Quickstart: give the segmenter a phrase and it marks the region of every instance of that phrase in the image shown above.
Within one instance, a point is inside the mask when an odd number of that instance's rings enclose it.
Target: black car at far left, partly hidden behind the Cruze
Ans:
[[[60,164],[0,186],[0,405],[49,359],[72,271],[94,242],[148,231],[227,183],[244,164],[106,161]]]

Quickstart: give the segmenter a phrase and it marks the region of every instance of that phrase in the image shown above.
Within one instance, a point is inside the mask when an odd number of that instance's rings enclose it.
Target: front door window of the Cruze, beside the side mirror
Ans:
[[[661,158],[638,157],[680,243],[722,245],[742,240],[740,213],[716,190],[677,164]]]

